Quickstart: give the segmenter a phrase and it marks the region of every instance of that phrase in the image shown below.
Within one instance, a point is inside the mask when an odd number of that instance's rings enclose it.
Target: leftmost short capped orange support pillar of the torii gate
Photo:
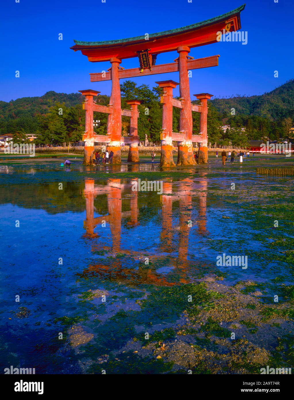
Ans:
[[[88,90],[79,90],[79,92],[85,96],[86,100],[84,104],[87,104],[87,108],[85,109],[85,134],[83,136],[83,141],[85,142],[84,149],[84,165],[92,165],[93,164],[93,152],[94,152],[94,132],[93,132],[93,106],[96,104],[93,100],[94,96],[97,96],[100,92],[96,90],[88,89]]]

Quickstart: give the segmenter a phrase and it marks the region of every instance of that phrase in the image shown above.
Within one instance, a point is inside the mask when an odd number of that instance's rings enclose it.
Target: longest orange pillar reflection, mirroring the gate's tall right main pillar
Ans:
[[[180,262],[187,261],[187,255],[188,255],[189,233],[191,229],[191,226],[189,226],[190,225],[189,220],[191,220],[191,204],[192,204],[191,184],[192,181],[190,179],[185,179],[181,181],[181,184],[179,186],[179,196],[180,196],[179,261]]]

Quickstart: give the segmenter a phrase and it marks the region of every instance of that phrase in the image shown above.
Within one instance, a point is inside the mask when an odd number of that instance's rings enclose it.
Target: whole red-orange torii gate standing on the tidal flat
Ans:
[[[183,28],[159,32],[148,35],[148,45],[145,36],[135,38],[106,41],[106,42],[79,42],[74,40],[75,45],[72,50],[81,50],[82,54],[88,57],[91,62],[110,61],[111,68],[109,72],[90,74],[91,82],[101,82],[104,80],[112,81],[111,96],[109,106],[97,106],[93,102],[93,96],[99,92],[95,90],[81,90],[80,92],[86,96],[84,109],[86,110],[86,128],[83,140],[85,141],[84,164],[91,163],[91,155],[94,151],[94,132],[93,132],[93,111],[107,112],[107,136],[99,136],[99,142],[106,142],[108,150],[113,151],[113,163],[121,163],[121,142],[130,143],[128,160],[131,160],[131,154],[136,154],[134,160],[138,161],[137,150],[135,150],[135,142],[137,142],[137,112],[135,106],[131,104],[131,110],[121,110],[121,94],[119,79],[131,78],[136,76],[145,76],[153,74],[163,74],[166,72],[179,71],[180,100],[172,100],[172,89],[176,83],[173,81],[158,82],[163,87],[165,94],[161,101],[165,105],[163,111],[163,134],[161,138],[161,166],[174,165],[172,157],[172,140],[178,141],[178,161],[177,165],[195,164],[193,156],[192,142],[199,142],[199,162],[207,162],[207,100],[211,98],[211,94],[202,93],[195,95],[200,99],[201,106],[191,104],[189,76],[188,70],[197,68],[207,68],[218,65],[218,55],[193,60],[188,54],[190,48],[203,46],[217,42],[217,32],[234,32],[241,28],[240,12],[244,9],[245,4],[235,10],[223,14],[219,17],[212,18],[197,24],[185,26]],[[149,47],[148,51],[144,49]],[[161,64],[155,66],[157,54],[177,50],[179,57],[173,63]],[[141,68],[131,68],[124,70],[119,66],[124,58],[132,58],[145,53],[144,64],[141,61]],[[190,60],[188,60],[190,58]],[[192,59],[192,60],[191,60]],[[147,67],[146,67],[147,66]],[[148,68],[148,69],[147,69]],[[169,83],[167,83],[169,82]],[[166,97],[166,98],[164,98]],[[168,100],[167,100],[168,99]],[[171,132],[172,106],[179,107],[180,113],[180,132],[173,134]],[[103,110],[102,111],[102,108]],[[192,135],[192,110],[200,112],[200,134]],[[136,115],[135,115],[136,114]],[[121,115],[131,117],[131,136],[121,136]],[[132,119],[133,118],[133,119]],[[96,136],[96,138],[97,138]],[[194,138],[192,137],[194,136]],[[197,137],[198,136],[198,137]],[[103,138],[103,139],[102,139]]]

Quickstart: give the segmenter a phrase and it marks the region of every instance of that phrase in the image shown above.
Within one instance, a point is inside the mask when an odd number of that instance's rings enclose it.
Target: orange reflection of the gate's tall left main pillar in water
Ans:
[[[119,251],[121,241],[121,188],[120,179],[109,179],[107,182],[109,193],[107,194],[107,207],[109,225],[112,234],[112,248]]]

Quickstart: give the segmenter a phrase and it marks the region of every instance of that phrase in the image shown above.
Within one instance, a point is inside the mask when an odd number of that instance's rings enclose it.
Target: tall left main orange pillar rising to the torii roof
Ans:
[[[108,152],[113,151],[113,164],[121,164],[121,90],[119,87],[119,58],[111,58],[111,96],[109,104],[112,106],[112,114],[108,114],[107,133],[110,133],[111,142],[108,144]]]

